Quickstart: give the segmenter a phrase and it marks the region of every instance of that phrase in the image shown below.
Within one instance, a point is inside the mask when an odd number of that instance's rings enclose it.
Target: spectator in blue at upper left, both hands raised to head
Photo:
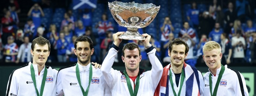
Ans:
[[[28,11],[28,17],[32,17],[35,28],[41,26],[41,16],[44,17],[44,12],[42,8],[36,3]],[[35,34],[33,36],[35,36]]]

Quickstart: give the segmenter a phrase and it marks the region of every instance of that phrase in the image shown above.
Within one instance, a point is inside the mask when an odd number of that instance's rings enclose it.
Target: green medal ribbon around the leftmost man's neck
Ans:
[[[31,73],[31,77],[32,77],[32,80],[33,80],[33,84],[34,84],[35,89],[36,89],[36,95],[37,96],[42,96],[43,92],[44,92],[45,81],[46,81],[47,68],[44,66],[44,76],[43,76],[43,80],[42,80],[42,84],[41,84],[40,95],[39,95],[39,92],[38,92],[37,87],[36,87],[36,76],[35,76],[35,69],[33,67],[33,64],[30,65],[30,73]]]

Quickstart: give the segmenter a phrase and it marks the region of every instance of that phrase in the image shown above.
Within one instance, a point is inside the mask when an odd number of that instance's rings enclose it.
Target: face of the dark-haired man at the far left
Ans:
[[[47,61],[50,51],[48,50],[48,44],[38,45],[35,44],[34,51],[30,50],[33,56],[33,64],[43,65]]]

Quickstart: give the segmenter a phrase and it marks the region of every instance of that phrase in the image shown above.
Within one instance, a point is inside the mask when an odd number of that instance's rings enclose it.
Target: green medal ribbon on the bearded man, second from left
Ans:
[[[84,88],[82,87],[81,85],[81,80],[80,80],[80,73],[79,73],[79,68],[78,68],[78,64],[76,63],[76,78],[77,78],[77,81],[80,85],[80,88],[83,92],[83,96],[87,96],[88,94],[88,91],[89,91],[89,86],[91,84],[91,80],[92,80],[92,64],[90,63],[90,70],[89,70],[89,84],[88,84],[88,87],[86,88],[86,91],[84,92]]]

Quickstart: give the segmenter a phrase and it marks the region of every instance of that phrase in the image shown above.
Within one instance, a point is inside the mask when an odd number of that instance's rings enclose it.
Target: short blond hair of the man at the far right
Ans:
[[[220,48],[219,43],[217,43],[215,41],[209,41],[209,42],[204,44],[203,53],[205,51],[212,51],[213,49],[217,49],[219,53],[221,52],[221,48]]]

